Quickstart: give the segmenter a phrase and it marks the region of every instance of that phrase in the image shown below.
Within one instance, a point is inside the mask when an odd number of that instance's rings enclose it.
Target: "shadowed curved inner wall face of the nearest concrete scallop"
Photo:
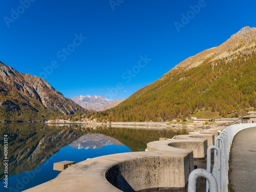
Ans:
[[[118,189],[130,191],[184,190],[194,164],[193,157],[159,156],[119,162],[106,171],[106,179]]]

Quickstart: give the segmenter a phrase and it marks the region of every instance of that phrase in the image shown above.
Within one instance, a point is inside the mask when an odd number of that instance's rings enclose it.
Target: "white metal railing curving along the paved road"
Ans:
[[[219,192],[228,192],[228,160],[229,160],[229,152],[232,145],[233,137],[240,131],[255,127],[256,123],[240,123],[233,124],[228,126],[226,129],[222,130],[220,135],[215,138],[215,145],[211,145],[207,150],[207,170],[208,172],[201,172],[203,177],[211,177],[214,176],[216,182],[218,184],[217,190],[216,188],[212,188],[211,184],[206,184],[206,192],[219,191]],[[215,149],[214,156],[214,166],[212,167],[212,173],[210,173],[210,151],[211,149]],[[197,170],[197,169],[196,169]],[[205,169],[204,169],[205,170]],[[191,172],[190,174],[192,174]],[[204,175],[205,174],[205,175]],[[211,174],[209,176],[209,174]],[[190,175],[189,175],[190,177]],[[188,181],[188,191],[196,191],[194,190],[194,184]]]

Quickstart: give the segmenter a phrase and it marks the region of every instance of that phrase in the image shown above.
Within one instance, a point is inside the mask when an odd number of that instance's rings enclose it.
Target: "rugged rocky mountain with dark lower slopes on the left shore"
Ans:
[[[0,121],[44,121],[84,112],[44,79],[17,72],[0,61]]]

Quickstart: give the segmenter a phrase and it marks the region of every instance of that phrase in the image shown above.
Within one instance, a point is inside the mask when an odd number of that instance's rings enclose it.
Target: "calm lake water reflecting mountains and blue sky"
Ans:
[[[115,153],[144,151],[160,137],[173,138],[195,129],[126,129],[87,127],[81,124],[49,125],[0,123],[0,191],[22,191],[54,179],[60,172],[53,163]],[[8,188],[4,184],[4,135],[8,138]]]

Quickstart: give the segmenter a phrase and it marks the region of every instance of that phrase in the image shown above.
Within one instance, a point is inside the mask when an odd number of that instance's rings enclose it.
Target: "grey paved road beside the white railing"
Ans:
[[[256,191],[256,127],[239,132],[233,139],[229,174],[234,192]]]

